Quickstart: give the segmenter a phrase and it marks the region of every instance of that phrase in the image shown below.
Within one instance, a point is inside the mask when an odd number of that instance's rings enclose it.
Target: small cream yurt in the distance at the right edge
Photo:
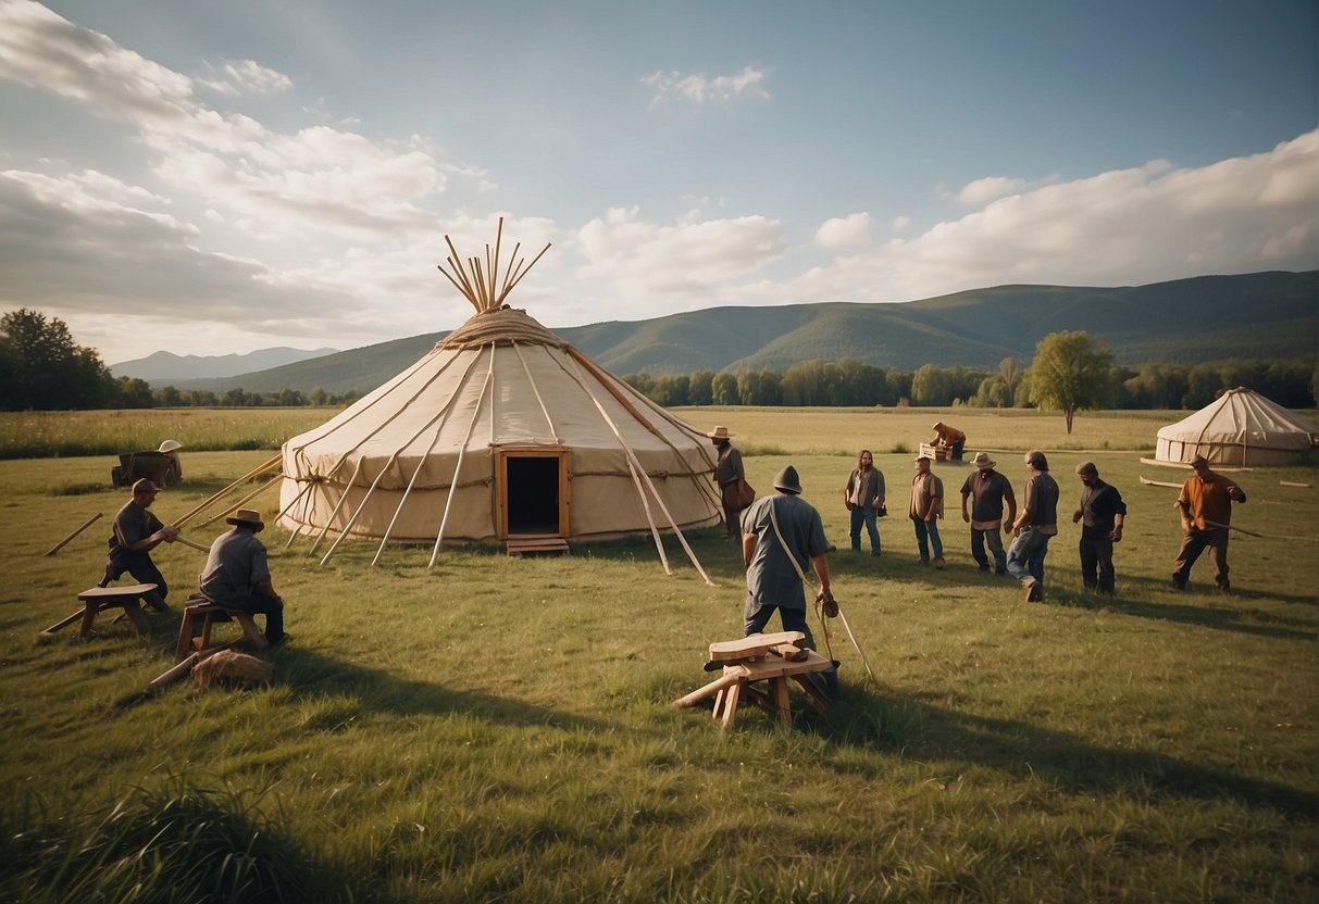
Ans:
[[[1304,463],[1319,445],[1319,426],[1244,386],[1231,389],[1190,418],[1158,431],[1155,461],[1236,466]]]

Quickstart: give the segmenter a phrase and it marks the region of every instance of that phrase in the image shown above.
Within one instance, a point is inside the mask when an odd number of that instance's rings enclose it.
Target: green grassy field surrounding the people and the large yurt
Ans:
[[[856,449],[877,452],[901,513],[911,455],[894,449],[944,415],[1018,488],[1020,453],[1050,451],[1068,511],[1072,468],[1099,464],[1130,507],[1116,597],[1082,592],[1071,523],[1043,606],[976,571],[955,506],[943,571],[917,563],[901,517],[880,522],[881,559],[847,551]],[[373,546],[344,544],[318,568],[306,540],[268,530],[294,635],[265,656],[273,685],[146,694],[173,662],[177,610],[142,639],[108,618],[87,640],[40,635],[100,573],[104,521],[42,553],[121,505],[112,460],[0,461],[0,899],[1319,896],[1314,469],[1236,474],[1250,501],[1233,524],[1264,535],[1232,540],[1237,593],[1212,592],[1207,561],[1174,593],[1177,490],[1140,477],[1184,472],[1138,461],[1169,412],[1082,415],[1072,436],[1033,412],[683,416],[737,434],[761,490],[794,464],[842,547],[834,589],[876,680],[831,626],[843,689],[828,717],[794,689],[791,730],[749,709],[720,735],[708,709],[671,706],[710,677],[706,646],[740,633],[740,556],[718,530],[689,538],[716,586],[671,538],[666,576],[648,539],[525,560],[446,548],[434,569],[429,550],[372,568]],[[158,427],[116,448],[153,447]],[[156,509],[169,519],[269,456],[189,453],[187,482]],[[936,465],[950,494],[967,470]],[[175,544],[157,560],[177,601],[203,556]]]

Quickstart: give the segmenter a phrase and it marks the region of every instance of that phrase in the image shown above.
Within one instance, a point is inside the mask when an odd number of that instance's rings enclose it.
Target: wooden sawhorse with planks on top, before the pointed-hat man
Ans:
[[[674,706],[692,706],[707,697],[714,697],[715,718],[719,720],[720,727],[725,729],[732,725],[737,716],[737,705],[745,697],[769,714],[777,716],[783,725],[791,725],[793,712],[787,700],[787,680],[791,679],[806,692],[806,700],[811,706],[820,713],[828,713],[828,700],[806,676],[813,672],[827,672],[834,663],[814,650],[798,648],[797,643],[805,639],[801,631],[780,631],[710,644],[711,664],[725,663],[724,673],[677,700]],[[768,681],[768,691],[752,687],[757,681]]]

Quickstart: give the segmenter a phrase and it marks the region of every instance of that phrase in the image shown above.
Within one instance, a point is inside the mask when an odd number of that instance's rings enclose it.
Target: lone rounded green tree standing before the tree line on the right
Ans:
[[[1112,360],[1108,347],[1084,329],[1049,333],[1035,345],[1035,360],[1030,362],[1030,401],[1062,411],[1070,434],[1078,411],[1111,405]]]

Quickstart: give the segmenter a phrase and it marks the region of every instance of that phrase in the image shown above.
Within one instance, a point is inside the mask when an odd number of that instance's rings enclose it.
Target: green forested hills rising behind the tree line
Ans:
[[[532,312],[534,316],[534,311]],[[1195,277],[1116,289],[996,286],[917,302],[827,302],[716,307],[637,322],[555,329],[616,374],[786,370],[811,358],[852,357],[913,370],[933,362],[993,369],[1029,365],[1051,332],[1084,329],[1117,364],[1194,364],[1314,357],[1319,349],[1319,271]],[[425,354],[446,333],[398,339],[179,389],[303,393],[368,391]]]

